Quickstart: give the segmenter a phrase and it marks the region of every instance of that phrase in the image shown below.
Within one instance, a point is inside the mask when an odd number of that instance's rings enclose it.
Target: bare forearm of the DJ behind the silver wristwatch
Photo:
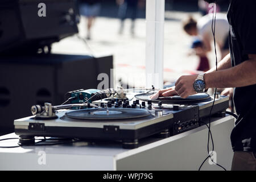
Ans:
[[[225,64],[221,68],[225,68]],[[233,68],[205,74],[205,87],[232,88],[256,84],[256,59],[250,59]]]

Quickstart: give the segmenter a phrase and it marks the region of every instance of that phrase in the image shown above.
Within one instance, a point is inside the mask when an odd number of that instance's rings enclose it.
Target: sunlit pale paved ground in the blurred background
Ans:
[[[181,28],[181,20],[192,14],[199,18],[199,13],[185,13],[184,11],[166,11],[164,24],[164,80],[174,81],[179,76],[195,71],[198,59],[196,56],[187,56],[191,38]],[[86,36],[86,20],[79,24],[79,35]],[[117,80],[122,78],[130,85],[144,86],[145,84],[145,38],[146,20],[136,20],[135,36],[130,34],[129,19],[125,22],[123,35],[118,34],[119,19],[99,17],[92,29],[92,39],[88,40],[88,46],[77,36],[72,36],[53,44],[55,53],[114,55],[115,86]],[[213,52],[211,65],[214,65]]]

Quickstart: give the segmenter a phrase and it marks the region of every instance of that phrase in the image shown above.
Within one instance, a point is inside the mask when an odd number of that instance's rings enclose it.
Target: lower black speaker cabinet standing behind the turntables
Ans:
[[[14,119],[31,115],[32,105],[64,102],[65,93],[97,88],[99,73],[110,78],[113,56],[35,55],[0,59],[0,133],[11,133]],[[110,82],[109,85],[113,84]]]

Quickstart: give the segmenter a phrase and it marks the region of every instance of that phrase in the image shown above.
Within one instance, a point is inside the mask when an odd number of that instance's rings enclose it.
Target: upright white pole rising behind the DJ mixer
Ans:
[[[146,1],[146,86],[163,88],[164,0]]]

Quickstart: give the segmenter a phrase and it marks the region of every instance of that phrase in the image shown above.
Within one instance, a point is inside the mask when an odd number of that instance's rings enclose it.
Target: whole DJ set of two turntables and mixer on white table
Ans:
[[[123,148],[136,148],[142,138],[166,138],[198,127],[208,117],[213,96],[196,94],[150,100],[156,91],[130,91],[125,98],[104,98],[88,104],[33,106],[31,117],[14,121],[20,143],[31,144],[34,137],[65,137],[118,140]],[[217,96],[216,96],[217,97]],[[228,108],[228,97],[217,97],[212,114]],[[87,109],[72,110],[74,106]],[[94,108],[93,108],[94,107]]]

